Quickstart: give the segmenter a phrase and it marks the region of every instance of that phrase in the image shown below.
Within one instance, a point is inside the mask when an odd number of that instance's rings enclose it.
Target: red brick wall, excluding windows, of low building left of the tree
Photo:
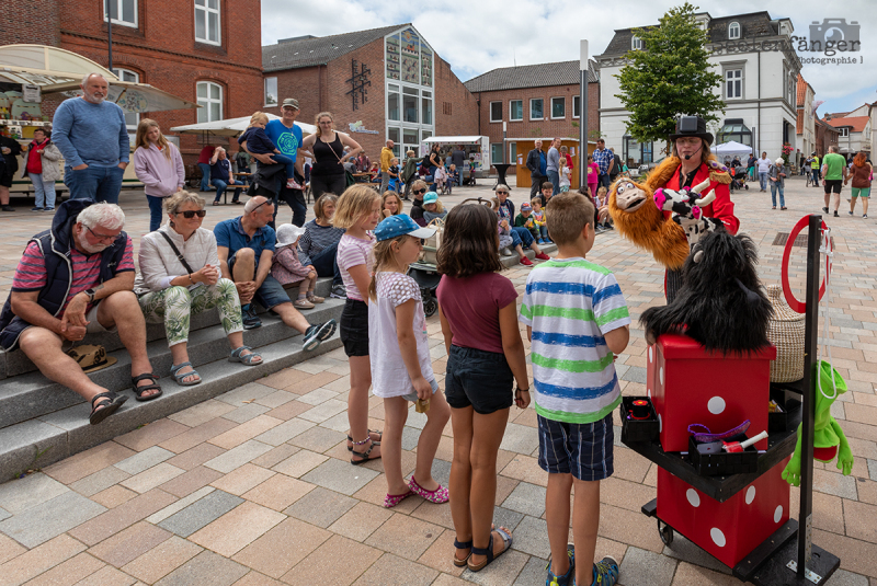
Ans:
[[[506,136],[509,138],[535,137],[570,137],[579,138],[579,118],[572,117],[572,96],[579,94],[579,85],[551,85],[547,88],[524,88],[519,90],[501,90],[496,92],[480,92],[475,94],[480,100],[478,112],[480,114],[480,131],[478,134],[490,137],[490,142],[502,142],[502,123],[490,122],[490,103],[502,102],[502,119],[509,123]],[[551,119],[551,97],[566,99],[566,117]],[[529,119],[529,100],[543,99],[544,120]],[[522,122],[509,120],[509,101],[522,100],[524,119]],[[600,84],[588,84],[588,133],[600,129]],[[521,150],[519,149],[519,154]],[[513,163],[514,161],[509,161]],[[509,171],[510,173],[513,170]]]

